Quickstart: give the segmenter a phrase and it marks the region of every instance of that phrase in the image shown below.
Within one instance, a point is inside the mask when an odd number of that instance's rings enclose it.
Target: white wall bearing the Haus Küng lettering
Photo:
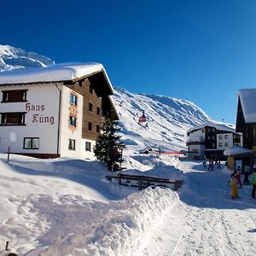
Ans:
[[[58,97],[55,84],[1,86],[2,90],[27,90],[27,102],[0,103],[0,113],[26,112],[26,125],[0,126],[0,152],[21,154],[56,154]],[[38,149],[23,149],[24,137],[39,137]]]

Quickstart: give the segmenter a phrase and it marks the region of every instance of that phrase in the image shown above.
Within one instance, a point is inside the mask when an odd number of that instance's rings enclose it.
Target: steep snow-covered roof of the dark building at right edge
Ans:
[[[256,123],[256,89],[238,90],[238,96],[246,123]]]

